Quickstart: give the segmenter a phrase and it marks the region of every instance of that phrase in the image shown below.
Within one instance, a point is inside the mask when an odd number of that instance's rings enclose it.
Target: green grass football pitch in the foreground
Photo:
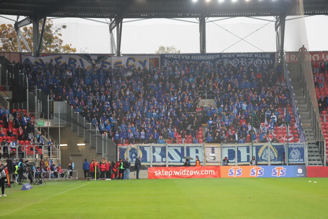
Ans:
[[[328,218],[327,186],[328,178],[61,181],[7,188],[0,206],[3,218],[313,219]]]

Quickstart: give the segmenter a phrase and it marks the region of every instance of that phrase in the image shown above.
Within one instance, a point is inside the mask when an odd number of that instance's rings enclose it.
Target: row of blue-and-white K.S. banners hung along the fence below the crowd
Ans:
[[[287,148],[288,147],[288,148]],[[184,157],[198,158],[202,165],[221,165],[227,157],[230,165],[250,165],[253,156],[260,165],[308,165],[307,143],[233,143],[233,144],[131,144],[118,146],[117,157],[133,164],[138,157],[142,165],[183,165]]]

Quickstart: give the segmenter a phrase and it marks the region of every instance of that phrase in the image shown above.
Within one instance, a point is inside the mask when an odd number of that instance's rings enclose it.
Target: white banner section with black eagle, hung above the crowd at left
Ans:
[[[21,54],[22,63],[28,62],[31,66],[34,64],[38,68],[45,68],[50,62],[53,65],[62,66],[67,64],[69,68],[86,68],[88,71],[93,69],[108,69],[111,67],[112,58],[110,55],[47,55],[47,56],[31,56]]]

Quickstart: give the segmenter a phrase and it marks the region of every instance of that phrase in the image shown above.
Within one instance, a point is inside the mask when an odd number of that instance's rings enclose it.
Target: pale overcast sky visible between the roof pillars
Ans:
[[[4,15],[16,20],[16,16]],[[24,17],[20,17],[20,20]],[[274,17],[260,17],[274,20]],[[288,16],[287,19],[294,17]],[[276,52],[275,23],[247,17],[211,22],[222,18],[209,18],[206,24],[206,52]],[[95,19],[109,22],[109,19]],[[133,19],[124,19],[129,21]],[[195,18],[184,19],[197,22]],[[109,28],[105,23],[82,18],[53,19],[55,25],[66,24],[62,30],[65,44],[72,44],[87,53],[111,53]],[[0,17],[0,23],[14,24]],[[309,51],[328,51],[328,16],[316,15],[286,21],[285,51],[296,51],[304,44]],[[231,32],[231,33],[229,33]],[[252,33],[255,32],[255,33]],[[233,35],[233,34],[235,35]],[[252,34],[251,34],[252,33]],[[114,32],[116,35],[116,33]],[[249,35],[251,34],[251,35]],[[248,37],[246,37],[249,35]],[[246,37],[243,41],[240,38]],[[115,39],[116,40],[116,39]],[[199,53],[199,25],[170,19],[147,19],[123,23],[122,54],[150,54],[159,46],[175,46],[181,53]]]

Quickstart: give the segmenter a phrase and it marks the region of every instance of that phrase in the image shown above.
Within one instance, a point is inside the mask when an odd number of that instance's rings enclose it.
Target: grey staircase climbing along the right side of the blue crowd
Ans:
[[[308,143],[308,159],[310,166],[322,166],[322,158],[319,146],[316,144],[314,129],[311,125],[310,114],[304,101],[302,88],[298,78],[291,78],[295,100],[297,101],[298,113],[301,117],[301,125],[304,130],[306,142]]]

